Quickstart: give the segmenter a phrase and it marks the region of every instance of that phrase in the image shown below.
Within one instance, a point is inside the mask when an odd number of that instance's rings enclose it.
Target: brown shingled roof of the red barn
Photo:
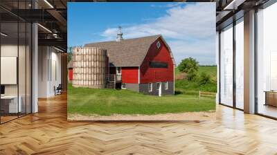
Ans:
[[[110,66],[141,66],[150,45],[161,35],[123,39],[120,42],[96,42],[85,44],[85,47],[107,49]]]

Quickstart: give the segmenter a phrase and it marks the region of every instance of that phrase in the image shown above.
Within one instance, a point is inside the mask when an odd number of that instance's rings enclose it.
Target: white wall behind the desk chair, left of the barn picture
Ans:
[[[61,54],[53,47],[39,46],[38,60],[38,97],[48,98],[61,83]]]

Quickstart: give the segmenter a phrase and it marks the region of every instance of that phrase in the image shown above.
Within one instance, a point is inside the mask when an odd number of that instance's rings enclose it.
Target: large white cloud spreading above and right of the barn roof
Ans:
[[[161,34],[172,48],[179,63],[184,57],[195,57],[200,64],[215,64],[215,3],[172,3],[166,15],[145,24],[123,26],[125,39]],[[154,6],[153,6],[154,7]],[[102,34],[115,39],[118,28],[107,28]]]

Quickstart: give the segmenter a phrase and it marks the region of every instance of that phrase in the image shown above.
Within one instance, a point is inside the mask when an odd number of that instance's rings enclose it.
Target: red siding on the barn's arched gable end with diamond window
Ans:
[[[157,48],[157,41],[161,43]],[[161,38],[154,42],[148,51],[140,69],[141,83],[174,81],[173,62],[170,51],[165,46]],[[150,62],[167,62],[168,68],[150,68]]]

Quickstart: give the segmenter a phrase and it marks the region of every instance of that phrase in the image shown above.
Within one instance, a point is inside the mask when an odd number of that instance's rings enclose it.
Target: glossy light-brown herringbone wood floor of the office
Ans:
[[[66,96],[0,125],[0,154],[277,154],[277,121],[217,107],[215,122],[67,122]]]

